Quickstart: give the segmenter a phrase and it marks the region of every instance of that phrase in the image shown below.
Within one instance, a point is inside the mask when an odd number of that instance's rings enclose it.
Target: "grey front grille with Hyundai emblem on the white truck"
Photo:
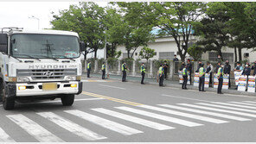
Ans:
[[[33,80],[61,80],[67,75],[76,75],[76,69],[17,70],[17,76],[27,76],[31,77]]]

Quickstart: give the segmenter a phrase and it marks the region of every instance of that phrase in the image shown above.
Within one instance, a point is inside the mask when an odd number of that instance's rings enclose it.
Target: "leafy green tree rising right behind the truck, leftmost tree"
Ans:
[[[93,52],[96,59],[97,51],[105,46],[105,15],[105,10],[96,3],[82,2],[79,5],[70,5],[69,9],[54,15],[51,24],[54,29],[77,32],[80,40],[89,47],[87,53]]]

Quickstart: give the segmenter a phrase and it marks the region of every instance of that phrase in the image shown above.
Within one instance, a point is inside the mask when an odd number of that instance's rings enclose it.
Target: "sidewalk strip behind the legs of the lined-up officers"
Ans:
[[[101,78],[101,74],[91,73],[91,77]],[[85,73],[83,73],[83,78],[86,78]],[[115,80],[120,80],[121,81],[122,77],[120,75],[109,75],[109,79],[115,79]],[[129,81],[129,82],[140,83],[141,78],[140,77],[127,76],[126,80]],[[159,85],[157,83],[157,79],[155,79],[155,78],[144,78],[144,84],[146,84],[146,85]],[[175,87],[175,88],[181,88],[181,90],[182,90],[182,85],[180,85],[178,81],[164,80],[163,85],[170,86],[170,87]],[[188,85],[187,87],[188,87],[189,90],[197,90],[198,91],[198,87],[193,86],[193,84]],[[205,91],[214,91],[214,92],[217,93],[217,89],[214,89],[214,88],[205,88]],[[241,96],[256,96],[256,93],[247,92],[247,91],[237,91],[237,90],[234,90],[234,89],[222,90],[222,92],[226,93],[226,94],[234,94],[234,95],[241,95]]]

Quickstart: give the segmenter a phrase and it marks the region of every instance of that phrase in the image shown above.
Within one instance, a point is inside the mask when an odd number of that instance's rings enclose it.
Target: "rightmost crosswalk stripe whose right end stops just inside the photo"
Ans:
[[[242,118],[242,117],[238,117],[238,116],[230,116],[230,115],[225,115],[225,114],[220,114],[220,113],[215,113],[215,112],[210,112],[210,111],[189,109],[189,108],[184,108],[184,107],[180,107],[180,106],[176,106],[176,105],[169,105],[169,104],[158,104],[158,105],[167,107],[167,108],[176,109],[176,110],[186,110],[186,111],[195,112],[195,113],[199,113],[199,114],[223,117],[223,118],[236,120],[236,121],[251,121],[250,119],[246,119],[246,118]]]

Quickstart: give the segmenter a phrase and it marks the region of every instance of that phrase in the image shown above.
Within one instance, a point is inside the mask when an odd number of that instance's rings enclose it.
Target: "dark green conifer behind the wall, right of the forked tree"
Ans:
[[[196,45],[202,47],[204,52],[216,51],[223,60],[221,50],[229,41],[229,20],[230,16],[223,3],[208,3],[206,16],[201,23],[195,25],[195,33],[201,37]]]

